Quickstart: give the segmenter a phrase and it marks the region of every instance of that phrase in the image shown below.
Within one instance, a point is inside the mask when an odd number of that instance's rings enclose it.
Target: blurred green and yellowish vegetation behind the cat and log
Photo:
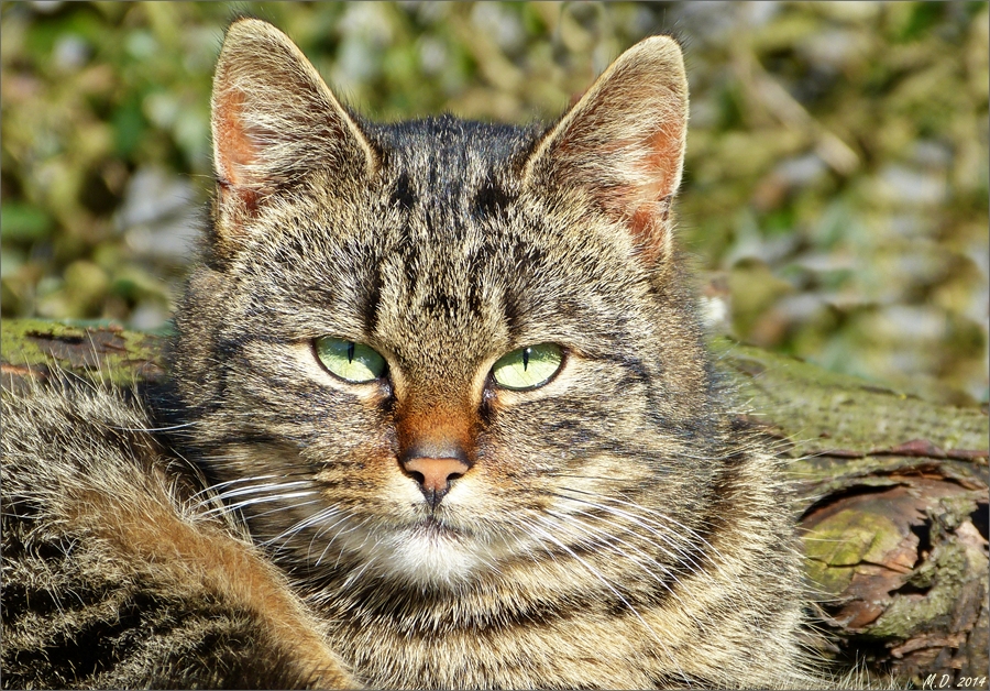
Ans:
[[[4,2],[4,317],[166,325],[237,13],[362,113],[550,119],[642,36],[688,53],[679,217],[737,337],[988,399],[986,2]]]

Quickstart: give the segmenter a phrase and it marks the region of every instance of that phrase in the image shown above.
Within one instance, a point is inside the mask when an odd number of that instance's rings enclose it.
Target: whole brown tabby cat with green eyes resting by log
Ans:
[[[172,395],[4,394],[4,687],[820,681],[674,242],[674,40],[550,127],[385,125],[242,19],[211,107]]]

